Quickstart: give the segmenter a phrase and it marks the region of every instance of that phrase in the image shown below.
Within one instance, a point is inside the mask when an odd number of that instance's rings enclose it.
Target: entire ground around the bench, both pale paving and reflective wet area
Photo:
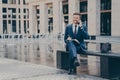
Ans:
[[[99,58],[88,62],[87,56],[79,57],[77,75],[57,69],[56,51],[65,50],[63,40],[10,39],[0,44],[0,80],[105,80],[99,77]]]

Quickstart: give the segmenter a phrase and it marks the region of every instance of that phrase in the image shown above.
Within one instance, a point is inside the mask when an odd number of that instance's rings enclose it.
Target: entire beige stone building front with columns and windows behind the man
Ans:
[[[74,12],[90,35],[120,36],[119,0],[1,0],[1,34],[64,33]]]

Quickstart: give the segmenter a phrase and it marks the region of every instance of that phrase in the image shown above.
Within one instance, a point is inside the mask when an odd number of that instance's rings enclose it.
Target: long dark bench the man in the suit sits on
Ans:
[[[120,79],[120,53],[101,53],[95,51],[86,51],[82,55],[100,57],[100,76],[107,79]],[[57,68],[68,70],[69,53],[67,51],[57,50]]]

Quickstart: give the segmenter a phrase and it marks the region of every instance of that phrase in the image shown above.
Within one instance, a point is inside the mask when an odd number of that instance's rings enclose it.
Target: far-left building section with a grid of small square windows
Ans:
[[[0,34],[25,34],[29,28],[26,0],[0,0]]]

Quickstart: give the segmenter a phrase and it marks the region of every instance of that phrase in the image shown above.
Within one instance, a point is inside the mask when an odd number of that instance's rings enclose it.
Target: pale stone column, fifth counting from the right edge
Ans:
[[[45,34],[48,31],[48,9],[44,2],[40,3],[40,33]]]

